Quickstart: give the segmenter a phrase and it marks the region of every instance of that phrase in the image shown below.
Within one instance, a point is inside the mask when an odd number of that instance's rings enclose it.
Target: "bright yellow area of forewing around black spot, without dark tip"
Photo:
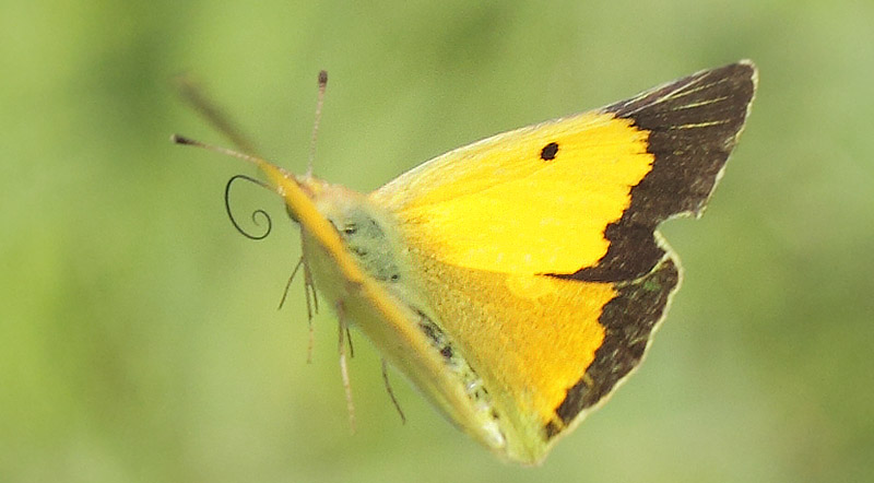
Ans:
[[[607,250],[604,227],[650,172],[647,132],[588,113],[452,151],[379,189],[414,246],[508,273],[566,273]]]

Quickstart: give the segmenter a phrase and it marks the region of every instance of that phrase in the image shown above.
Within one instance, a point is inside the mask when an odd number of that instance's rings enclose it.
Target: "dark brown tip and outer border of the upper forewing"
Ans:
[[[634,188],[622,219],[607,225],[606,255],[594,267],[557,276],[634,280],[662,259],[653,238],[659,223],[700,214],[743,129],[756,87],[756,69],[739,62],[698,72],[603,110],[649,132],[652,170]]]

